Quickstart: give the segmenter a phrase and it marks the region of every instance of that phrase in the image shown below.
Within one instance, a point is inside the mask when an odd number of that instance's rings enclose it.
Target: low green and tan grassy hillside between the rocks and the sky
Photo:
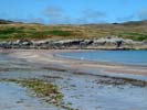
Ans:
[[[135,41],[147,40],[147,21],[112,24],[43,25],[0,20],[0,41],[18,38],[96,38],[109,35]]]

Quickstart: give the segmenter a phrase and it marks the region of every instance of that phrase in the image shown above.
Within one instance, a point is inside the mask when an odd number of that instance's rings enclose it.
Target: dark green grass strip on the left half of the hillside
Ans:
[[[1,28],[0,40],[17,40],[17,38],[48,38],[51,36],[66,37],[74,35],[72,31],[62,30],[36,30],[27,28]]]

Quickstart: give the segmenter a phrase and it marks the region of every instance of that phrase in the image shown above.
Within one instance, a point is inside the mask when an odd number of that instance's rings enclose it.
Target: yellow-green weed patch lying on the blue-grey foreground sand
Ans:
[[[1,81],[10,81],[21,85],[22,87],[27,87],[33,94],[38,97],[42,98],[49,98],[50,100],[46,100],[52,103],[52,100],[54,100],[54,103],[57,103],[62,101],[63,95],[60,92],[60,89],[56,85],[53,85],[51,82],[45,82],[40,79],[2,79]]]

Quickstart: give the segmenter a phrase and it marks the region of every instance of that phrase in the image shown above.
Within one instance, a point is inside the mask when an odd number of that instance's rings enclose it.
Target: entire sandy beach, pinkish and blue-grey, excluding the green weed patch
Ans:
[[[36,78],[53,82],[61,88],[64,102],[73,110],[147,110],[147,85],[144,81],[147,77],[146,67],[54,56],[61,52],[71,51],[1,51],[6,55],[0,59],[0,79]],[[116,68],[118,72],[114,74]],[[132,73],[127,73],[126,69]],[[27,89],[15,84],[0,82],[0,98],[3,98],[0,100],[2,110],[8,110],[8,105],[9,110],[63,109],[52,105],[46,107],[43,100],[30,97]]]

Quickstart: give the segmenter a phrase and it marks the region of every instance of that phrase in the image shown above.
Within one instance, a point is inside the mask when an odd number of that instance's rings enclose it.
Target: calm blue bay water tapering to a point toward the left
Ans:
[[[147,66],[147,51],[90,51],[59,54],[62,57]]]

